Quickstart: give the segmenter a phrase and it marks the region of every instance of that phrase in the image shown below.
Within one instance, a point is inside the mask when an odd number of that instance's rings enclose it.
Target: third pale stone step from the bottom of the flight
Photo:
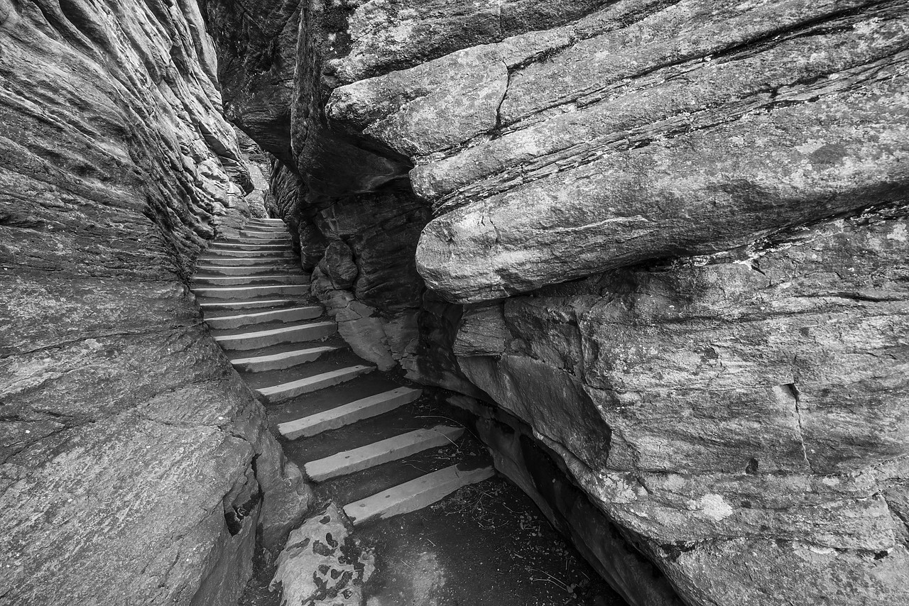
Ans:
[[[319,433],[338,429],[379,414],[385,414],[385,412],[394,411],[399,406],[414,402],[421,395],[423,395],[423,390],[398,387],[388,392],[376,393],[368,398],[338,406],[330,411],[317,412],[294,421],[279,423],[278,432],[281,432],[281,435],[288,440],[318,435]]]

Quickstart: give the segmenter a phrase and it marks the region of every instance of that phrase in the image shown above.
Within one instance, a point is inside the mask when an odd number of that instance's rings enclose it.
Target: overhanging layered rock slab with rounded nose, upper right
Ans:
[[[500,298],[904,198],[903,3],[693,0],[618,26],[635,8],[332,94],[332,124],[416,164],[435,290]]]

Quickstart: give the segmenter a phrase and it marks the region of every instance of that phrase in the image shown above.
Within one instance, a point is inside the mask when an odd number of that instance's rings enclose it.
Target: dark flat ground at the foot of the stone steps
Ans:
[[[366,606],[625,606],[534,502],[495,477],[355,537],[375,551]],[[252,581],[242,606],[278,606]]]

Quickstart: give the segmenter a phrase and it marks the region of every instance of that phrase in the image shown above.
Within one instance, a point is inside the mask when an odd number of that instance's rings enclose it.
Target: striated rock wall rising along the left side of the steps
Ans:
[[[215,72],[195,2],[0,0],[0,603],[228,604],[304,514],[185,286],[248,214]]]

